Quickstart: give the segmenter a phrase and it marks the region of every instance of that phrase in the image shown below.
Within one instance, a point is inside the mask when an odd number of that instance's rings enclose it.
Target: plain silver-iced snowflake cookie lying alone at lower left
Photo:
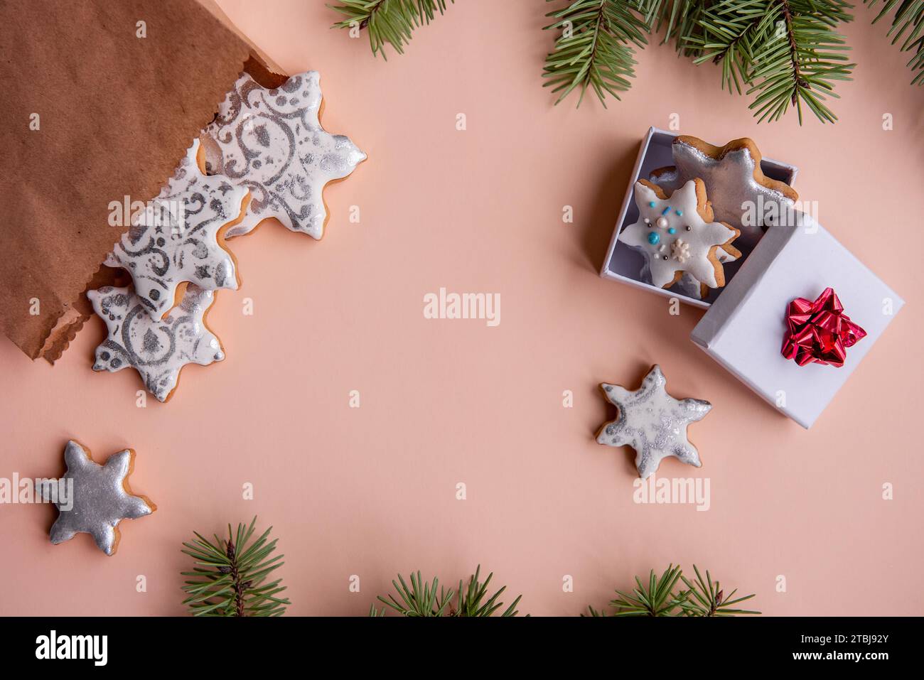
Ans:
[[[116,553],[119,543],[118,524],[123,519],[151,515],[157,506],[146,496],[136,495],[128,486],[128,476],[135,464],[131,449],[109,456],[103,465],[93,461],[90,450],[71,440],[64,451],[67,470],[59,480],[43,480],[43,499],[58,508],[58,518],[51,528],[52,543],[57,545],[88,533],[96,546],[106,553]]]

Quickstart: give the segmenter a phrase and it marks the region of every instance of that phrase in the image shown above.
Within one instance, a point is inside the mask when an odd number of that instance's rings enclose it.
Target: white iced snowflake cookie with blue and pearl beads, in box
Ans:
[[[700,179],[691,179],[668,198],[662,188],[639,179],[635,184],[638,221],[619,232],[619,240],[646,257],[652,285],[668,288],[690,273],[710,288],[725,285],[717,254],[740,253],[731,245],[737,229],[712,222],[712,209]]]

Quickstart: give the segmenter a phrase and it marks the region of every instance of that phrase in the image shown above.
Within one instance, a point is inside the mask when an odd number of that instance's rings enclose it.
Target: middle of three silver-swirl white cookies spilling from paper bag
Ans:
[[[247,189],[205,176],[199,140],[105,260],[131,274],[142,309],[160,317],[174,306],[177,286],[237,290],[237,268],[222,247],[225,228],[241,216]]]

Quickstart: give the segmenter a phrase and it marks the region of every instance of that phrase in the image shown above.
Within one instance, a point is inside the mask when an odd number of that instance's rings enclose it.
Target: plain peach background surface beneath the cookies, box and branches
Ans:
[[[396,572],[451,582],[479,563],[523,593],[521,611],[577,614],[672,561],[756,592],[764,613],[920,613],[918,589],[888,584],[914,582],[924,558],[914,193],[924,90],[907,85],[906,55],[869,27],[869,10],[845,27],[859,66],[838,88],[841,121],[799,128],[792,114],[757,126],[714,67],[658,45],[640,55],[622,103],[553,107],[541,88],[553,39],[542,2],[457,3],[387,63],[365,36],[330,30],[336,17],[320,2],[221,5],[290,71],[321,71],[325,127],[370,159],[326,191],[321,243],[279,225],[231,242],[244,286],[210,315],[227,358],[188,368],[167,405],[136,407],[131,370],[91,372],[98,320],[54,368],[0,340],[0,476],[60,474],[69,437],[98,460],[131,446],[133,487],[159,506],[123,523],[111,559],[87,536],[52,546],[47,506],[0,506],[0,613],[183,613],[180,542],[254,514],[286,554],[293,614],[365,614]],[[597,276],[638,140],[672,113],[685,132],[751,136],[798,165],[822,224],[906,297],[811,431],[687,340],[699,310],[670,316],[662,298]],[[422,297],[441,286],[499,292],[500,326],[425,320]],[[714,405],[691,430],[703,468],[662,466],[709,477],[708,512],[633,504],[633,455],[594,443],[610,415],[597,383],[635,383],[652,362],[675,395]],[[573,408],[562,407],[566,389]],[[348,407],[350,390],[361,407]],[[883,482],[894,500],[881,500]],[[347,588],[354,574],[359,593]]]

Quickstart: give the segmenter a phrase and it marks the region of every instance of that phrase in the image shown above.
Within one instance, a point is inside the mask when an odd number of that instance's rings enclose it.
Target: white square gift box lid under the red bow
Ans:
[[[799,366],[781,352],[789,303],[796,297],[815,300],[829,286],[867,335],[846,350],[842,367]],[[827,230],[805,217],[798,226],[767,230],[690,337],[808,429],[904,304]]]

